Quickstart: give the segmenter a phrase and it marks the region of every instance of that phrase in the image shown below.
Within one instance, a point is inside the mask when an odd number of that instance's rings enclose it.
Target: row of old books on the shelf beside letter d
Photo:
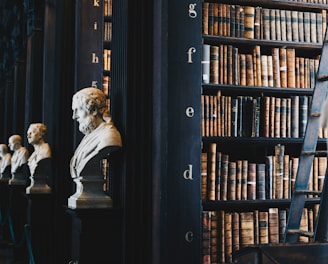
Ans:
[[[273,155],[263,163],[247,159],[230,160],[229,154],[209,144],[201,155],[201,193],[203,200],[290,199],[294,190],[299,157],[285,153],[285,146],[275,146]],[[322,191],[327,157],[314,157],[308,189]],[[308,194],[312,198],[313,194]]]

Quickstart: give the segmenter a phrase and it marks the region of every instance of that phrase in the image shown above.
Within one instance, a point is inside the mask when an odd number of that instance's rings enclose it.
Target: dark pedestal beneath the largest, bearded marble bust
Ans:
[[[70,209],[71,263],[122,263],[122,213],[113,209]]]

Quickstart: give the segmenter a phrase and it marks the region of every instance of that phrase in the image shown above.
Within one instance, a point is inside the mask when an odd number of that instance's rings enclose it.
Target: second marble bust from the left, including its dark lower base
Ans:
[[[27,148],[22,146],[22,137],[12,135],[8,140],[9,149],[13,152],[11,157],[11,179],[9,184],[26,184],[27,160],[30,156]]]

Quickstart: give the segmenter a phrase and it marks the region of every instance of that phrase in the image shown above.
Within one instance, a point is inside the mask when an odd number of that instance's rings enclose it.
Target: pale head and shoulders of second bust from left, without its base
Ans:
[[[8,140],[8,146],[13,151],[11,157],[11,173],[15,173],[18,168],[27,164],[30,154],[28,149],[22,146],[22,137],[20,135],[12,135]]]

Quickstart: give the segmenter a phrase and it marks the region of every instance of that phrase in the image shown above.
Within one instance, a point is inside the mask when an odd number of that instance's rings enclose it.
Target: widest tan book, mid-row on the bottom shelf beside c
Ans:
[[[254,216],[253,212],[241,212],[240,219],[240,247],[254,244]]]

